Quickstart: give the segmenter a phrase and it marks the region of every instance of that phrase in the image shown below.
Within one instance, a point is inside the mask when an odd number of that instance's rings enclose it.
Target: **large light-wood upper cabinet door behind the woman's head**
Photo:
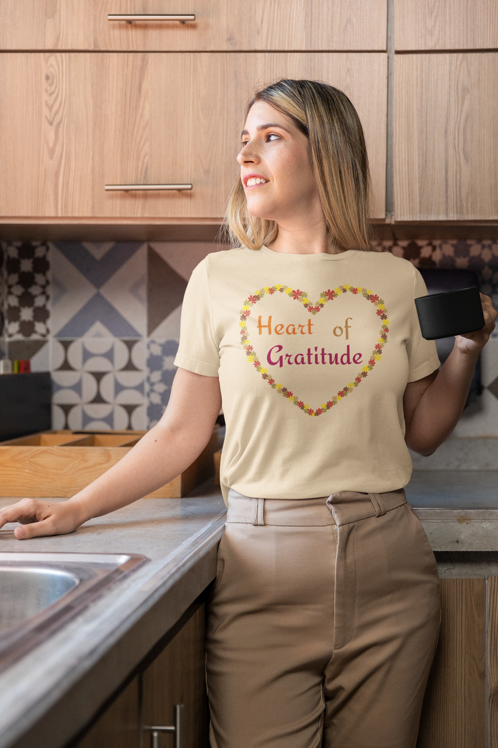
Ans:
[[[220,218],[255,85],[319,79],[364,126],[373,218],[385,216],[387,55],[4,53],[1,212],[29,218]],[[22,95],[19,95],[19,91]],[[108,192],[105,184],[191,183]]]

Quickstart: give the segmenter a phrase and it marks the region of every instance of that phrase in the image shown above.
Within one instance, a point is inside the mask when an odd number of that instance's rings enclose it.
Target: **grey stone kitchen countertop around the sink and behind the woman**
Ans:
[[[415,470],[406,492],[434,551],[498,551],[498,471]],[[142,499],[71,535],[26,542],[14,525],[0,530],[0,551],[150,559],[0,673],[0,748],[59,748],[87,723],[214,579],[224,522],[220,489],[204,486],[183,499]],[[469,554],[476,576],[488,562],[498,570],[495,554],[484,555]],[[442,576],[464,575],[454,554],[441,557]]]

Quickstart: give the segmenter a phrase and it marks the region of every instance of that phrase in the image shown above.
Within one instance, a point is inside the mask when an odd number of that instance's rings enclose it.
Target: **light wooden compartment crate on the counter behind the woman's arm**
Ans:
[[[181,498],[214,473],[215,426],[199,457],[146,498]],[[128,453],[145,431],[50,431],[0,442],[0,496],[74,496]]]

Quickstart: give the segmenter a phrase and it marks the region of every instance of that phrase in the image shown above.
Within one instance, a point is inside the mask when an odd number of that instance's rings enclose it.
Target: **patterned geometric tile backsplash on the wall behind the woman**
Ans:
[[[223,247],[222,247],[223,248]],[[468,268],[498,308],[498,239],[378,242],[419,268]],[[181,301],[210,242],[2,242],[0,357],[52,372],[54,429],[148,429],[175,375]],[[498,332],[455,436],[498,437]]]

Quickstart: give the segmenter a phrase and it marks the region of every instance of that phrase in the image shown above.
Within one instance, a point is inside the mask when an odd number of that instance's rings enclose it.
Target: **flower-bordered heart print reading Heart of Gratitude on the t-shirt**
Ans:
[[[336,325],[333,328],[333,335],[335,337],[342,338],[344,334],[344,343],[349,341],[346,343],[345,350],[343,349],[341,352],[326,352],[324,346],[320,348],[320,345],[314,346],[311,344],[310,336],[317,333],[317,325],[315,322],[312,322],[311,317],[308,316],[308,319],[305,320],[305,322],[299,324],[298,322],[288,322],[287,319],[281,321],[280,319],[276,319],[270,313],[258,315],[259,309],[254,309],[255,305],[258,304],[258,301],[261,301],[265,296],[273,297],[275,294],[284,294],[290,299],[290,301],[299,302],[299,304],[302,304],[302,308],[307,310],[307,314],[311,314],[314,318],[316,318],[317,314],[323,310],[323,307],[325,307],[326,304],[337,298],[343,298],[343,295],[352,294],[356,298],[364,298],[366,302],[373,304],[374,307],[376,307],[376,319],[381,323],[379,338],[376,341],[372,352],[369,353],[369,355],[366,355],[361,350],[355,351],[354,349],[351,349],[351,346],[354,343],[354,336],[352,336],[351,333],[351,329],[354,327],[354,325],[352,325],[352,316],[345,316],[342,324]],[[334,304],[334,307],[338,307],[337,301]],[[370,307],[370,309],[372,309],[372,307]],[[258,343],[249,340],[247,322],[251,315],[255,317],[257,316],[257,319],[253,319],[252,322],[253,324],[256,323],[255,331],[258,334]],[[286,322],[288,322],[288,324],[286,324]],[[283,396],[291,404],[296,405],[306,415],[316,417],[326,413],[347,395],[354,392],[355,387],[359,387],[373,370],[373,367],[381,361],[382,349],[387,343],[389,325],[390,322],[389,319],[387,319],[387,309],[384,301],[370,289],[367,290],[362,286],[351,286],[348,283],[345,283],[342,286],[337,286],[335,289],[322,291],[317,303],[313,303],[310,301],[308,294],[305,291],[292,289],[290,286],[278,283],[276,286],[264,286],[263,289],[257,290],[254,294],[249,295],[249,297],[246,298],[246,301],[244,301],[243,307],[240,310],[240,343],[246,352],[246,357],[249,363],[255,367],[255,370],[261,375],[264,381],[266,381],[267,384],[270,384],[270,387],[272,387],[273,390],[276,390],[276,393]],[[311,328],[314,326],[315,330],[312,330]],[[340,330],[340,332],[336,332],[337,330]],[[304,342],[305,344],[302,346],[303,350],[302,352],[295,352],[293,350],[290,353],[284,353],[284,346],[281,345],[281,342],[278,342],[282,339],[274,337],[273,340],[270,340],[270,348],[267,351],[265,350],[263,355],[263,353],[261,353],[263,350],[261,347],[261,335],[263,333],[270,337],[273,337],[274,335],[294,336],[299,334],[299,338],[293,338],[293,340],[299,340],[301,345]],[[308,337],[305,337],[303,341],[301,336]],[[317,340],[317,338],[313,339],[313,343],[315,340]],[[255,351],[256,345],[260,352],[259,355]],[[262,360],[264,363],[261,363]],[[330,396],[327,396],[325,402],[313,408],[305,402],[305,397],[301,397],[302,393],[294,393],[289,387],[285,387],[277,381],[277,378],[282,378],[282,380],[286,378],[285,373],[290,373],[290,366],[305,366],[307,369],[308,366],[320,364],[333,364],[338,365],[339,367],[341,365],[349,367],[353,364],[358,365],[360,368],[355,370],[353,381],[346,382],[342,386],[342,389],[338,390],[336,393],[330,393]],[[275,369],[273,369],[273,367],[275,367]],[[282,371],[280,372],[280,370]],[[273,371],[278,371],[278,375],[274,374]],[[347,378],[349,378],[349,376]]]

